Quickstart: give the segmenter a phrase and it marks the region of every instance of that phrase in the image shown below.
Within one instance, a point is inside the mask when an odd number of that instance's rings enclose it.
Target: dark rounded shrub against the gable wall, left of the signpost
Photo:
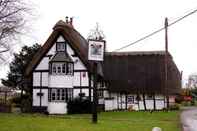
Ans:
[[[91,113],[92,102],[88,99],[75,98],[74,100],[68,102],[67,109],[68,114]]]

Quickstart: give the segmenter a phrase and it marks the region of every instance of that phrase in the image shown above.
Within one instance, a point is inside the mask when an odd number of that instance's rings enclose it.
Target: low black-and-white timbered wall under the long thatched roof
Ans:
[[[129,109],[133,109],[133,110],[144,110],[144,103],[143,100],[136,100],[137,95],[135,94],[128,94],[127,95],[127,99],[126,99],[126,95],[124,94],[119,94],[119,93],[105,93],[105,110],[129,110]],[[132,96],[133,97],[133,102],[129,103],[128,102],[128,97]],[[142,95],[140,95],[140,97],[142,98]],[[127,101],[127,103],[126,103]],[[155,105],[156,105],[156,110],[161,110],[164,107],[166,107],[166,105],[164,104],[165,100],[164,97],[162,95],[156,95],[155,96]],[[154,100],[148,98],[148,95],[145,95],[145,103],[146,103],[146,109],[147,110],[153,110],[154,109]],[[126,105],[127,104],[127,105]]]

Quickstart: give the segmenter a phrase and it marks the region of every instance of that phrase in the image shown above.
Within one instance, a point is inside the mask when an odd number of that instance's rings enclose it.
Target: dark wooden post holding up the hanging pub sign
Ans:
[[[92,122],[97,123],[97,63],[94,62],[94,86],[93,86],[93,110],[92,110]]]

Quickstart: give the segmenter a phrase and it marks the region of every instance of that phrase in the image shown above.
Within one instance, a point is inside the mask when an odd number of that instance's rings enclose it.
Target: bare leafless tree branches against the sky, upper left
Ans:
[[[13,54],[12,47],[23,33],[30,10],[24,0],[0,0],[0,64]]]

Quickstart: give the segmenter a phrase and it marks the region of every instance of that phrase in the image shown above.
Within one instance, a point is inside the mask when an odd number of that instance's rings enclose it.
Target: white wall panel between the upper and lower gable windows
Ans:
[[[71,75],[50,75],[49,87],[73,88],[73,76]]]

